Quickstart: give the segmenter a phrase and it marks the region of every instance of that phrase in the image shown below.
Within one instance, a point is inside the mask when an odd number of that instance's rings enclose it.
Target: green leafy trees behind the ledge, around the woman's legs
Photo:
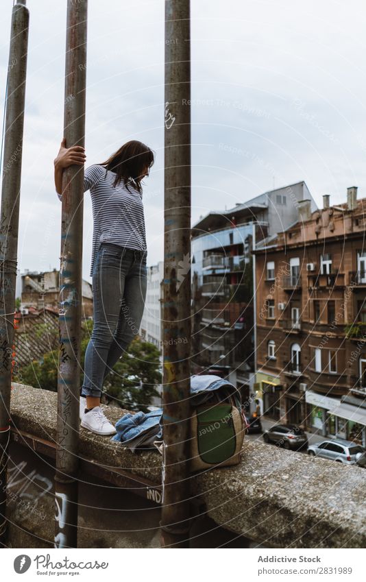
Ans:
[[[84,380],[85,352],[93,331],[93,321],[82,324],[80,386]],[[151,398],[158,396],[156,385],[161,383],[160,352],[148,341],[135,337],[127,352],[106,376],[103,398],[115,400],[122,408],[147,410]],[[14,375],[14,381],[56,392],[58,386],[58,350],[47,352]]]

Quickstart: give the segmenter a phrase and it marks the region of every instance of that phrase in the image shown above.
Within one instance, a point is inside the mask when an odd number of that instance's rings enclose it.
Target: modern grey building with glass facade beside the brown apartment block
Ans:
[[[254,386],[252,250],[297,220],[297,204],[316,204],[304,182],[265,192],[192,228],[192,373],[228,378],[249,398]]]

